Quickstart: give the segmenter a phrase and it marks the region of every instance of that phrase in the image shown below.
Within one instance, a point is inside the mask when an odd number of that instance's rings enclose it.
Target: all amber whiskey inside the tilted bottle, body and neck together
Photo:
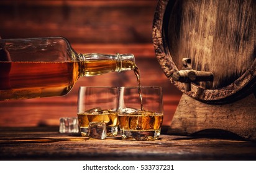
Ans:
[[[122,62],[122,67],[133,68],[134,65],[133,62]],[[0,61],[0,100],[66,95],[79,77],[105,74],[116,69],[116,61],[112,60]]]

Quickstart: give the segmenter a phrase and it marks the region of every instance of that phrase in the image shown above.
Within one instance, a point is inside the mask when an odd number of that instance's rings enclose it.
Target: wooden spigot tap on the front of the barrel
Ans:
[[[173,73],[172,78],[177,82],[185,83],[185,91],[191,90],[191,82],[213,81],[212,72],[197,71],[191,68],[191,59],[186,57],[182,59],[183,68]]]

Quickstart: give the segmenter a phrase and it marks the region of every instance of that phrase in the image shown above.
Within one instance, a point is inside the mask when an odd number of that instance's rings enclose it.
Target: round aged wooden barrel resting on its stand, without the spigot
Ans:
[[[225,104],[255,93],[255,0],[160,0],[153,44],[163,72],[179,90],[204,103]],[[211,82],[191,91],[173,80],[190,57],[194,70],[212,72]]]

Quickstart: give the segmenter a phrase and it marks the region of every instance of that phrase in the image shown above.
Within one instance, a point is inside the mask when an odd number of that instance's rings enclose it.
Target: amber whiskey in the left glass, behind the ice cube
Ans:
[[[93,113],[88,112],[91,111],[78,114],[78,122],[83,137],[88,136],[89,122],[104,122],[107,127],[107,136],[113,137],[117,135],[118,119],[116,111],[103,110]]]

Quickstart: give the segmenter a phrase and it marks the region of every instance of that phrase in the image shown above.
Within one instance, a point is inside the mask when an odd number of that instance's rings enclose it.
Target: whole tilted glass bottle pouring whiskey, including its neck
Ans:
[[[62,96],[80,77],[135,67],[132,54],[78,54],[62,37],[0,39],[0,100]]]

